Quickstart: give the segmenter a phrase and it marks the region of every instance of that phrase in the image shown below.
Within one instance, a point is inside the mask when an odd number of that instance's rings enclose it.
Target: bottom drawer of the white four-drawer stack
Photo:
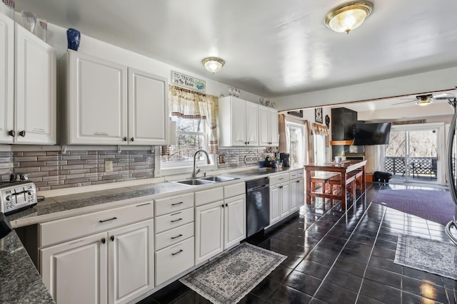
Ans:
[[[156,285],[194,266],[194,238],[156,251]]]

